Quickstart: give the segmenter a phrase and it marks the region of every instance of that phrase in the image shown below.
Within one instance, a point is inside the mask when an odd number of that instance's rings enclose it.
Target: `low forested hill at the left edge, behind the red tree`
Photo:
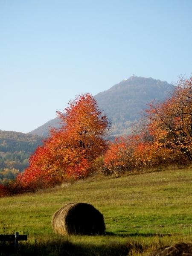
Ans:
[[[42,138],[33,134],[0,130],[0,183],[12,179],[28,166],[30,154],[41,145]]]

